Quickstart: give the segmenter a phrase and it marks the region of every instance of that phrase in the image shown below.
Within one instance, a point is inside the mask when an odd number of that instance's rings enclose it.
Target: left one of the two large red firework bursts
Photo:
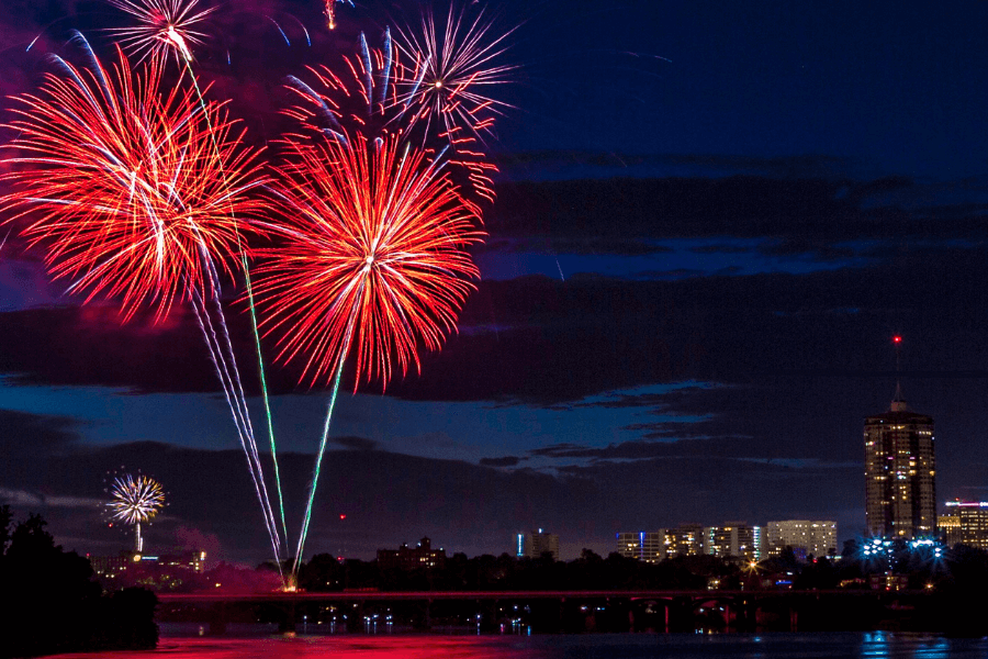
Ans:
[[[70,290],[121,298],[125,319],[154,305],[160,320],[211,290],[213,264],[236,267],[243,219],[263,205],[248,193],[265,180],[222,107],[180,85],[159,92],[159,60],[132,72],[117,49],[108,71],[88,53],[88,68],[58,59],[63,75],[18,99],[0,208]]]

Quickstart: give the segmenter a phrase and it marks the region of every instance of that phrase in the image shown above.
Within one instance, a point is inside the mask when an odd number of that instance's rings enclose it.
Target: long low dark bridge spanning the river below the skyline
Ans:
[[[327,618],[359,630],[385,612],[415,627],[475,621],[491,632],[506,624],[536,632],[911,629],[935,608],[929,591],[879,590],[217,591],[158,597],[166,613],[202,613],[215,632],[245,611],[263,611],[284,629]]]

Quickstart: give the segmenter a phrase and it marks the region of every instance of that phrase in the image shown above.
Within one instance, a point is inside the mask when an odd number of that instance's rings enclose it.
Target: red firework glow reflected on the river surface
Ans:
[[[153,651],[82,652],[49,659],[538,659],[518,638],[473,636],[296,636],[164,638]]]

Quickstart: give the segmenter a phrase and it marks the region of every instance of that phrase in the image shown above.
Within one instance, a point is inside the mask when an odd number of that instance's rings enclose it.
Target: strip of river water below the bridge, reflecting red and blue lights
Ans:
[[[263,633],[251,626],[255,634]],[[172,627],[170,633],[181,629]],[[194,628],[190,626],[190,632]],[[155,651],[61,655],[63,659],[974,659],[988,641],[920,634],[435,634],[164,636]]]

